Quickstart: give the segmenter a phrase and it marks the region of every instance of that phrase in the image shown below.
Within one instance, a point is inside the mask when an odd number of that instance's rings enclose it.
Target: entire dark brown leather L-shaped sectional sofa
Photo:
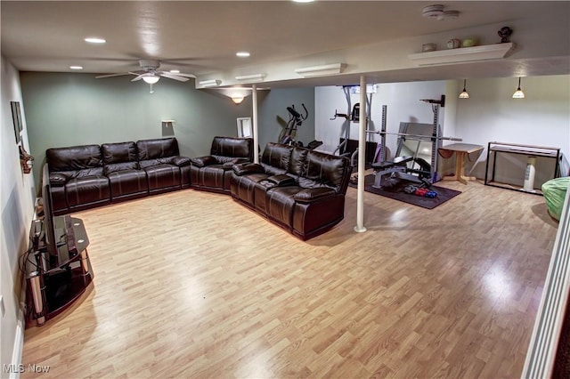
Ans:
[[[304,240],[344,218],[346,157],[268,143],[253,164],[253,140],[233,137],[215,137],[210,153],[181,157],[175,138],[47,149],[53,214],[192,187],[231,194]]]

